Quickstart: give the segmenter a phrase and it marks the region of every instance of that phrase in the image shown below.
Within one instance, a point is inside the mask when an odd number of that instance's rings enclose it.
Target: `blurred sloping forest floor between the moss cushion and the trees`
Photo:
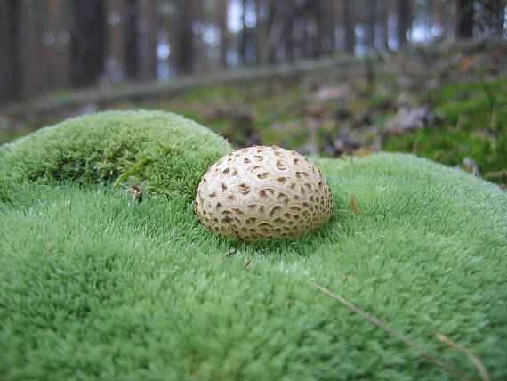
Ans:
[[[162,109],[197,120],[236,147],[278,144],[328,157],[365,156],[379,150],[411,152],[504,187],[505,56],[507,45],[485,41],[412,47],[289,76],[86,101],[40,114],[28,109],[13,118],[9,110],[0,110],[0,142],[80,113]]]

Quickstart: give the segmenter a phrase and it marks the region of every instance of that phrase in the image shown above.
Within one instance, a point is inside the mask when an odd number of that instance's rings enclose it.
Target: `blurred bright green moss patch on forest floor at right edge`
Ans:
[[[440,163],[473,158],[482,174],[507,166],[507,78],[445,86],[432,94],[443,126],[391,137],[384,149],[411,151]],[[505,182],[502,178],[490,178]]]

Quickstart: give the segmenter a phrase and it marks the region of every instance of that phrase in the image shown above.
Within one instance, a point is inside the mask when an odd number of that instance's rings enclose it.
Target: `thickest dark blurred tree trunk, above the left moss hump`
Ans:
[[[94,85],[104,69],[106,12],[102,0],[72,2],[70,82]]]

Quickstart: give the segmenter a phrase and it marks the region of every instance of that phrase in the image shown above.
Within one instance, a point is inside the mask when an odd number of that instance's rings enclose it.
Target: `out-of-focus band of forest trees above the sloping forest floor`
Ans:
[[[504,0],[0,0],[0,103],[238,65],[505,36]]]

